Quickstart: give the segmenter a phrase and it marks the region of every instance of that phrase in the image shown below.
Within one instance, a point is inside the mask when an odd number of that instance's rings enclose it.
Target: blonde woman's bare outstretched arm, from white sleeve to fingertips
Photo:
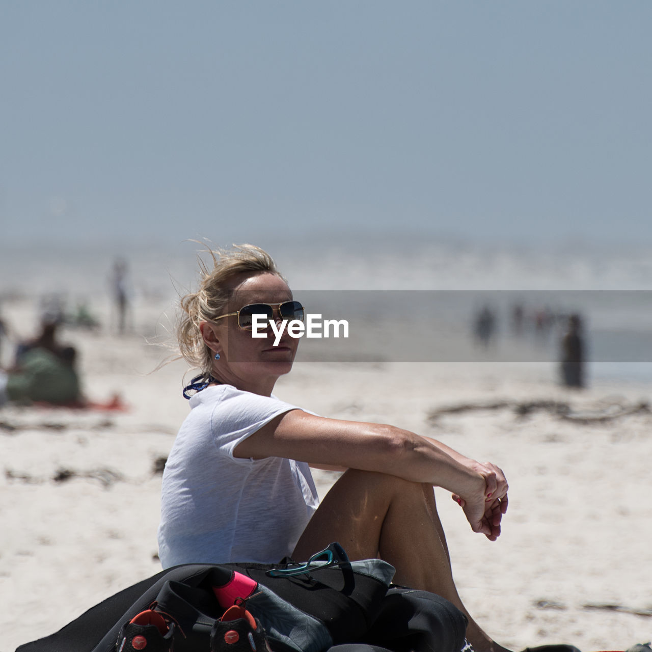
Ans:
[[[384,424],[326,419],[295,409],[239,443],[235,456],[285,457],[440,486],[459,499],[473,530],[490,539],[499,535],[500,518],[507,509],[507,481],[498,467]]]

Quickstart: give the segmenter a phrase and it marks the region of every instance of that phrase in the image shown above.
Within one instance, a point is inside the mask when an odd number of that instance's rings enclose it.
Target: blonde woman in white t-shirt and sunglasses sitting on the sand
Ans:
[[[452,579],[433,486],[449,490],[471,529],[491,541],[507,511],[507,481],[494,464],[390,425],[319,417],[272,392],[299,340],[252,315],[303,319],[273,260],[243,245],[211,252],[200,288],[181,301],[179,346],[202,374],[162,483],[158,533],[164,568],[183,563],[306,560],[338,541],[351,559],[381,557],[394,582],[437,593],[469,619],[477,652],[497,651],[468,614]],[[400,334],[398,334],[400,336]],[[310,466],[343,475],[319,503]]]

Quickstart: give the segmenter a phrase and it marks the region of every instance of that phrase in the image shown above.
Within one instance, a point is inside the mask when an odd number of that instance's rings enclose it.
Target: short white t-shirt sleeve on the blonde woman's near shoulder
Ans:
[[[301,408],[275,396],[260,396],[240,390],[228,392],[215,406],[211,418],[211,431],[218,452],[235,462],[247,464],[250,460],[233,456],[237,445],[274,417],[293,409]]]

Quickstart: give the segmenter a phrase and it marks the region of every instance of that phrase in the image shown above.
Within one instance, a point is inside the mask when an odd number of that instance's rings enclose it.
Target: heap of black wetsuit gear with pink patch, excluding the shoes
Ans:
[[[175,652],[207,652],[215,621],[235,602],[259,619],[274,652],[462,649],[464,615],[434,593],[390,586],[393,574],[381,559],[349,561],[339,544],[303,564],[185,564],[16,652],[115,652],[125,623],[147,608],[174,621]]]

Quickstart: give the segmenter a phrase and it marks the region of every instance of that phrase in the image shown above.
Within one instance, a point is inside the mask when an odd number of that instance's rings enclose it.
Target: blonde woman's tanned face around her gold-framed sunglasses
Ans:
[[[288,284],[271,273],[241,275],[234,279],[231,289],[233,295],[224,314],[237,312],[252,303],[278,304],[292,299]],[[280,323],[278,312],[274,312],[274,318],[277,324]],[[220,353],[220,360],[215,363],[216,372],[227,381],[241,381],[243,386],[263,378],[274,377],[275,380],[287,374],[299,346],[299,339],[289,336],[287,329],[276,346],[276,335],[271,328],[254,337],[252,331],[244,331],[238,326],[235,315],[218,319],[213,325],[213,332]],[[238,383],[234,384],[238,386]]]

